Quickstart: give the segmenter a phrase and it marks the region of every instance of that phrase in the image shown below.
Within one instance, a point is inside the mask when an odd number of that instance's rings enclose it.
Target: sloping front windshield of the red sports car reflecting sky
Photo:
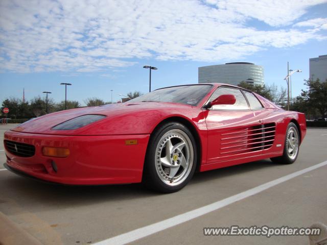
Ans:
[[[211,89],[212,85],[160,88],[128,102],[172,102],[196,106]]]

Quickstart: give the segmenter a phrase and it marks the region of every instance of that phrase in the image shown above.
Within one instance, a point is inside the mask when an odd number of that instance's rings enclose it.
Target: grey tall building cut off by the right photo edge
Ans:
[[[321,82],[327,79],[327,55],[319,55],[309,59],[310,80],[319,78]]]

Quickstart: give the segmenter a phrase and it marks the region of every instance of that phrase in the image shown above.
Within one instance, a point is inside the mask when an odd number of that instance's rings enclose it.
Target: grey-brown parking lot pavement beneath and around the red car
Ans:
[[[1,141],[10,127],[0,126]],[[324,162],[326,149],[327,129],[308,129],[294,164],[267,159],[197,173],[184,189],[172,194],[148,191],[141,184],[44,184],[16,176],[1,164],[0,211],[43,244],[97,243]],[[3,150],[1,143],[1,163],[6,159]],[[306,236],[204,236],[203,228],[326,224],[326,176],[327,165],[321,166],[132,244],[309,244]]]

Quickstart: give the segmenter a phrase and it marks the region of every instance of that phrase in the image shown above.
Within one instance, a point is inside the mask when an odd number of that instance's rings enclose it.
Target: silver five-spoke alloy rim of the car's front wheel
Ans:
[[[188,178],[194,162],[193,145],[189,136],[179,129],[165,133],[155,153],[156,171],[160,180],[175,186]]]

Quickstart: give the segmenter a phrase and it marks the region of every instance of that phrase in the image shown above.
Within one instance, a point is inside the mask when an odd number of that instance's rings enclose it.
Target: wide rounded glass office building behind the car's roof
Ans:
[[[227,83],[238,85],[245,81],[264,85],[264,68],[248,62],[199,67],[199,83]]]

